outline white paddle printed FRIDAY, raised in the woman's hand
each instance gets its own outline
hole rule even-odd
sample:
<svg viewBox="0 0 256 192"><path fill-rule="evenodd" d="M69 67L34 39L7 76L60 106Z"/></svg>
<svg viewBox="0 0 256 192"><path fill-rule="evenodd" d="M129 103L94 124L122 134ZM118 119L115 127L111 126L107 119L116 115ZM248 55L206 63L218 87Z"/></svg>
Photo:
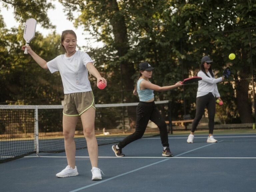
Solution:
<svg viewBox="0 0 256 192"><path fill-rule="evenodd" d="M36 20L30 18L25 23L25 28L23 32L23 38L26 41L26 45L29 45L30 41L34 38L36 33ZM28 53L27 48L25 48L25 54Z"/></svg>

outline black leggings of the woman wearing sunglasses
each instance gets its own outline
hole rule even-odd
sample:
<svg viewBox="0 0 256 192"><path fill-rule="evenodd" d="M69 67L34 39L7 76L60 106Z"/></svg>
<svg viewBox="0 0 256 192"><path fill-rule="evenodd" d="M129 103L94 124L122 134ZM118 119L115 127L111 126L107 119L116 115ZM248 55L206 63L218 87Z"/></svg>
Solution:
<svg viewBox="0 0 256 192"><path fill-rule="evenodd" d="M205 107L208 110L209 134L213 134L216 103L215 103L215 97L213 96L212 93L208 93L207 95L196 98L196 116L192 123L192 129L191 129L192 133L195 132L196 127L204 114Z"/></svg>

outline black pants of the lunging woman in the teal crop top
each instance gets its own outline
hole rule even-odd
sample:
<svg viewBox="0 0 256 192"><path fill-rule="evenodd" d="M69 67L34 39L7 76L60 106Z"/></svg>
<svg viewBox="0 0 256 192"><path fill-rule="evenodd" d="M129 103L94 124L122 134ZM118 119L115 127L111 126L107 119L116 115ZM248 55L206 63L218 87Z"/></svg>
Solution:
<svg viewBox="0 0 256 192"><path fill-rule="evenodd" d="M154 102L140 101L136 108L136 129L131 135L128 135L123 141L118 143L119 148L124 148L129 143L140 139L148 125L148 121L154 122L160 131L160 138L164 147L169 147L168 133L166 123L161 116L160 112L156 109Z"/></svg>

